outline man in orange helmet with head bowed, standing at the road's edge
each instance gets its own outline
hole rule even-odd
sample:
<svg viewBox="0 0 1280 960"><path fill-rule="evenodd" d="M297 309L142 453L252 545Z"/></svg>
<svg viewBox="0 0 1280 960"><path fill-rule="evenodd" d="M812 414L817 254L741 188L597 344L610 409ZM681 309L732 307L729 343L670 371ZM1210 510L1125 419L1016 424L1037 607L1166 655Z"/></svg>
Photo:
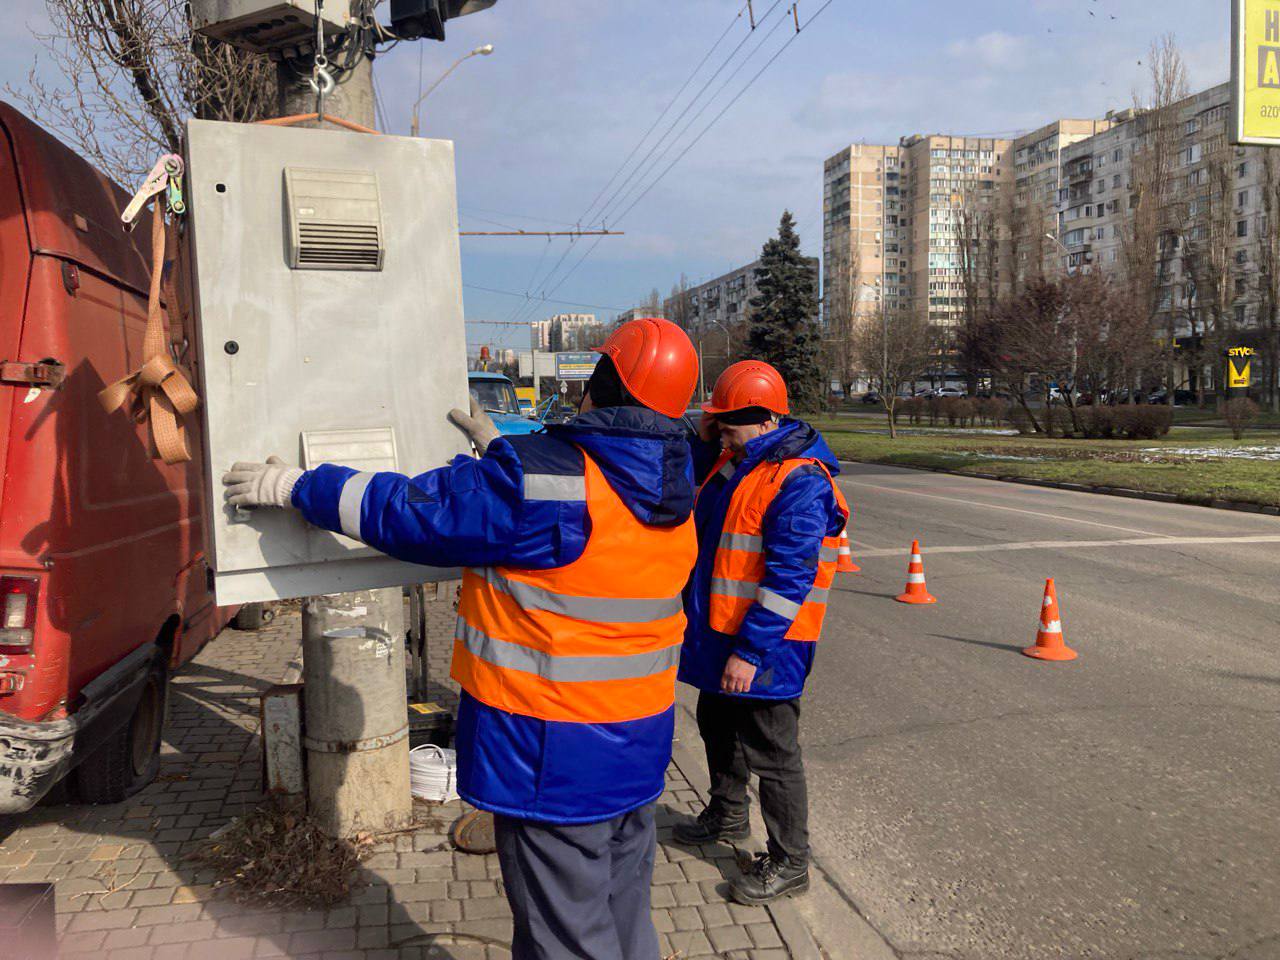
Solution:
<svg viewBox="0 0 1280 960"><path fill-rule="evenodd" d="M835 454L791 419L768 364L733 364L699 424L698 566L685 590L680 680L699 689L710 800L677 824L684 844L750 836L748 781L760 781L768 850L730 884L741 904L809 888L800 695L836 577L849 504Z"/></svg>

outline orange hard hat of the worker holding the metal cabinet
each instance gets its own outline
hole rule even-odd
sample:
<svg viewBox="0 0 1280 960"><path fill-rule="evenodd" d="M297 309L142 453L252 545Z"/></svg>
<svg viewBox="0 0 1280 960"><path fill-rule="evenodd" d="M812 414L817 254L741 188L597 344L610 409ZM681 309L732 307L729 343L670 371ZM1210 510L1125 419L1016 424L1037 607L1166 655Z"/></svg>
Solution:
<svg viewBox="0 0 1280 960"><path fill-rule="evenodd" d="M698 351L669 320L628 320L595 352L613 361L622 385L649 410L669 417L689 410L698 384Z"/></svg>

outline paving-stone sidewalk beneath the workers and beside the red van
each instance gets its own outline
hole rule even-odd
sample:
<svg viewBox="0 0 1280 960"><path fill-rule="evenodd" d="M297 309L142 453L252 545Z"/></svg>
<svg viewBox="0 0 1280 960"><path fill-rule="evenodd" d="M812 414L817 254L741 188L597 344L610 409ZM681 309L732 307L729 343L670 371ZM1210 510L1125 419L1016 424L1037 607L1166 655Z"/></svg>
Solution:
<svg viewBox="0 0 1280 960"><path fill-rule="evenodd" d="M430 608L431 695L452 707L452 604ZM232 902L207 869L186 859L261 801L259 694L296 660L300 636L298 614L287 608L261 631L225 631L187 664L173 680L160 776L128 803L46 805L0 818L0 882L56 883L64 960L511 956L497 858L456 852L447 838L461 804L438 806L421 829L376 846L362 864L362 886L329 910ZM671 842L672 824L701 806L690 783L696 777L682 769L689 758L677 744L658 804L653 908L663 955L787 960L785 920L727 902L733 849Z"/></svg>

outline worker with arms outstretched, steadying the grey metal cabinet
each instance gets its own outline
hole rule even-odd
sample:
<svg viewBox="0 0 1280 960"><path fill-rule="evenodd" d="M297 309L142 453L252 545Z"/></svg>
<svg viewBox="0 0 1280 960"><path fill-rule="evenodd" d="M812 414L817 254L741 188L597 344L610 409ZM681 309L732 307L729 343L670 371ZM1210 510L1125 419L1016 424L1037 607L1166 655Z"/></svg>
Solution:
<svg viewBox="0 0 1280 960"><path fill-rule="evenodd" d="M654 801L675 731L681 590L696 558L680 424L689 337L623 324L580 415L410 479L238 463L237 506L293 507L399 559L465 567L453 643L458 792L494 814L516 960L657 960Z"/></svg>

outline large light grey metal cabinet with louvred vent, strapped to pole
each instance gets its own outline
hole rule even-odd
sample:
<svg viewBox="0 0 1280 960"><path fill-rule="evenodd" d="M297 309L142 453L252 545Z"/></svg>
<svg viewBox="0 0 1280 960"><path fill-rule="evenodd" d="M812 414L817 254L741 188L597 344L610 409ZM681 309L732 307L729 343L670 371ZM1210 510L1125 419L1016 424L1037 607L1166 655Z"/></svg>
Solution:
<svg viewBox="0 0 1280 960"><path fill-rule="evenodd" d="M278 454L416 475L470 448L453 145L191 120L191 241L219 604L451 579L237 511L221 474Z"/></svg>

